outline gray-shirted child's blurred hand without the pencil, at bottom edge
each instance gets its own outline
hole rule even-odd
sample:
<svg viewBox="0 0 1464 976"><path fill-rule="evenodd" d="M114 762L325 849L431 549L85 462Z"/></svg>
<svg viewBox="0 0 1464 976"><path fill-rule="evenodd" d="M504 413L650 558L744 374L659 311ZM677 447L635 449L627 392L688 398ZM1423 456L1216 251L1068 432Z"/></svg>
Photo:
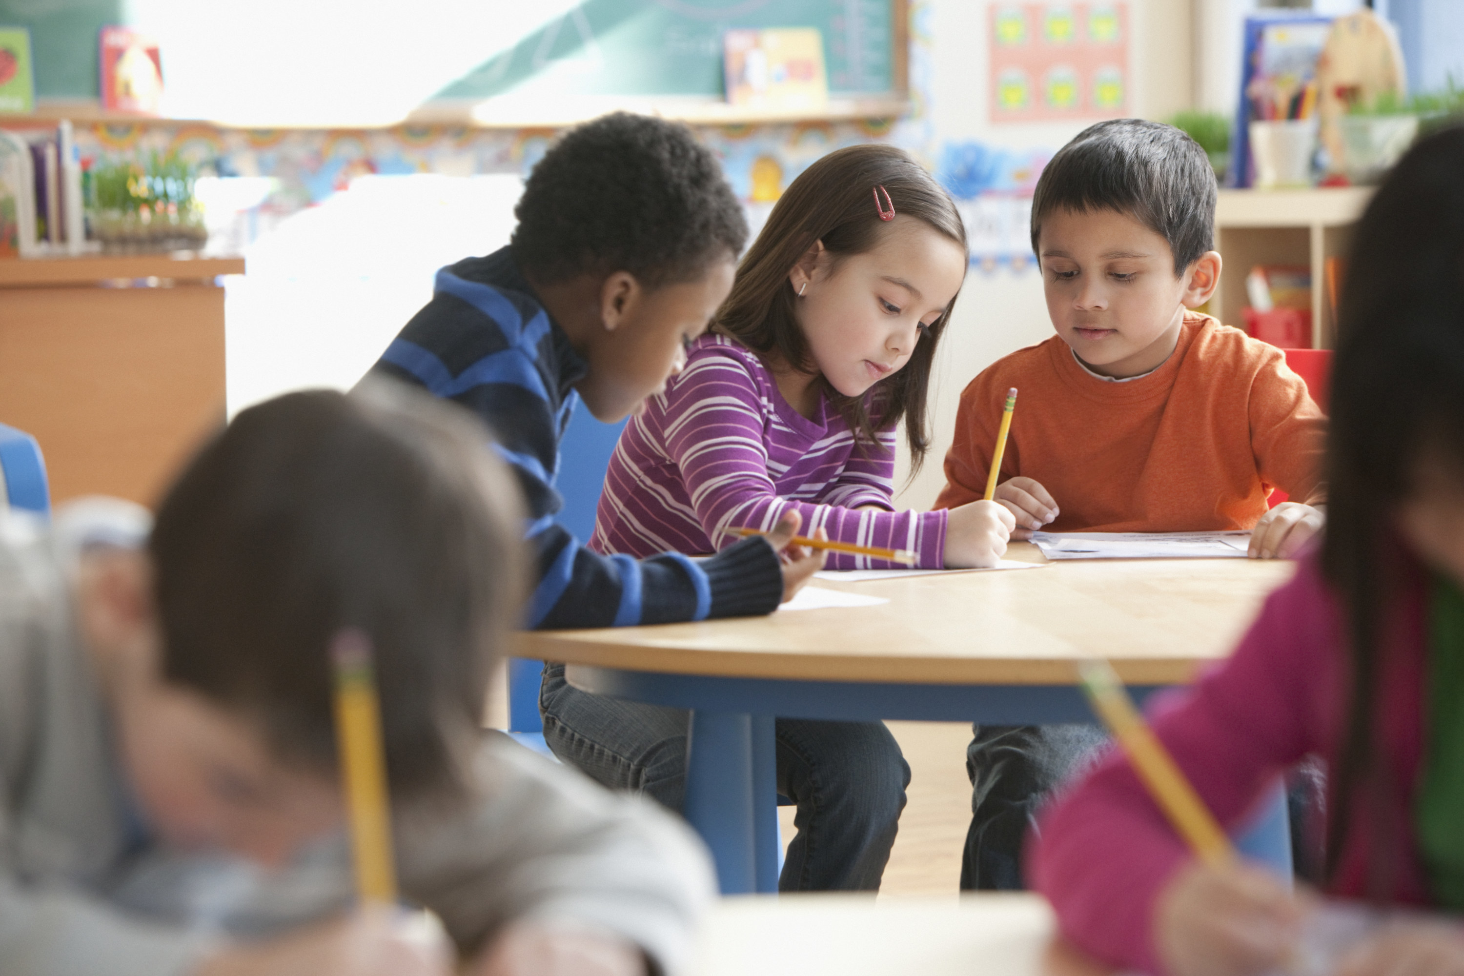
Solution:
<svg viewBox="0 0 1464 976"><path fill-rule="evenodd" d="M646 954L618 935L514 922L467 970L471 976L646 976Z"/></svg>

